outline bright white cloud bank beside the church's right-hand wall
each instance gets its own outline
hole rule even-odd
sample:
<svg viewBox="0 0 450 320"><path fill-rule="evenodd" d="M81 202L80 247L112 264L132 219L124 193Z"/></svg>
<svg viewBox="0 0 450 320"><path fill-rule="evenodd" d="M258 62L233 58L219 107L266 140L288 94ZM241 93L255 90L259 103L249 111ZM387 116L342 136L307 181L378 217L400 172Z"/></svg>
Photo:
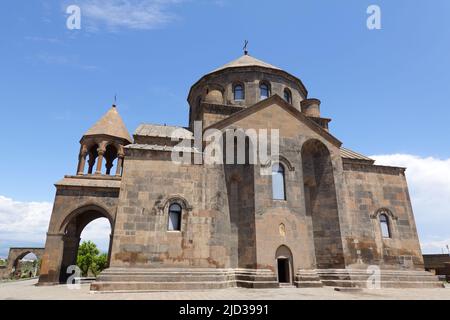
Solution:
<svg viewBox="0 0 450 320"><path fill-rule="evenodd" d="M372 156L376 164L406 167L411 202L424 253L450 245L450 159L408 154Z"/></svg>

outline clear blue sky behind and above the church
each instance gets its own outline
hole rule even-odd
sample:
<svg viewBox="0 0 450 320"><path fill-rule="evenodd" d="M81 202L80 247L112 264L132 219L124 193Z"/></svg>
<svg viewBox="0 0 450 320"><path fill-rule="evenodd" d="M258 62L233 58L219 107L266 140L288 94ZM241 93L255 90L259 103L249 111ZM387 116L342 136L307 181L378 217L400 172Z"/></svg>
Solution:
<svg viewBox="0 0 450 320"><path fill-rule="evenodd" d="M81 30L66 28L70 4L82 8ZM381 7L381 30L366 27L370 4ZM251 55L322 100L347 147L444 163L449 13L448 0L2 1L0 196L51 203L115 94L131 132L141 122L187 125L190 86L239 57L245 39ZM423 237L450 239L438 224Z"/></svg>

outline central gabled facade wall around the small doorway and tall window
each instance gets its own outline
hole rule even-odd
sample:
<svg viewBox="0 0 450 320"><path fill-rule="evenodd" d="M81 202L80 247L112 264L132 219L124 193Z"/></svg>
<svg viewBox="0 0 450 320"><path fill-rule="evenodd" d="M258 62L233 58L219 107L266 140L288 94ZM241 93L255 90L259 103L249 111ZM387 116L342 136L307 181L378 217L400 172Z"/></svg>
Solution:
<svg viewBox="0 0 450 320"><path fill-rule="evenodd" d="M233 127L274 128L280 133L286 200L272 199L271 175L262 174L263 166L258 164L253 171L255 211L245 212L246 215L255 215L257 268L276 271L276 252L281 246L291 250L294 270L315 268L312 217L306 214L304 202L301 150L311 139L321 141L331 153L334 175L339 176L342 170L339 148L276 105L234 122ZM339 191L342 188L340 179L335 179L335 184Z"/></svg>

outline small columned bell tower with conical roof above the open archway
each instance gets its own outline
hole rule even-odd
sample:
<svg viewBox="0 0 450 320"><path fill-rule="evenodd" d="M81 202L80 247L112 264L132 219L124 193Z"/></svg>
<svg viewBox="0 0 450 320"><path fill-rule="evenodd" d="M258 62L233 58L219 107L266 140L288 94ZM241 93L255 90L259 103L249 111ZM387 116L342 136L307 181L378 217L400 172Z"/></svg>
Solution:
<svg viewBox="0 0 450 320"><path fill-rule="evenodd" d="M117 107L112 105L81 138L77 175L121 176L125 156L123 148L130 143L130 134Z"/></svg>

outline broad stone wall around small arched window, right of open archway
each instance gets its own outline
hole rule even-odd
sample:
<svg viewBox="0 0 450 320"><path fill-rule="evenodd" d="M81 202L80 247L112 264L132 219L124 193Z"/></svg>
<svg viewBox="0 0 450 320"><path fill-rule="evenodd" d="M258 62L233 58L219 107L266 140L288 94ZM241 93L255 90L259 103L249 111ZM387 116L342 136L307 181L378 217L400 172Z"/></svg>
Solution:
<svg viewBox="0 0 450 320"><path fill-rule="evenodd" d="M231 233L223 170L177 165L170 152L127 150L112 267L230 267ZM168 206L183 207L168 231Z"/></svg>

